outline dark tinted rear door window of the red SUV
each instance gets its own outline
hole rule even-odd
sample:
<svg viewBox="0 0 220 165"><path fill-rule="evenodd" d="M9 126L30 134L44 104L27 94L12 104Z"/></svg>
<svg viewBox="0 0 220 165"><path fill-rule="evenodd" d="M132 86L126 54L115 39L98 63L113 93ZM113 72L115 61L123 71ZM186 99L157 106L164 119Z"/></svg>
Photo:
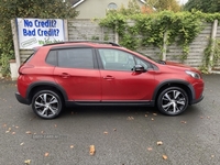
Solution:
<svg viewBox="0 0 220 165"><path fill-rule="evenodd" d="M58 66L68 68L94 68L91 48L58 50Z"/></svg>

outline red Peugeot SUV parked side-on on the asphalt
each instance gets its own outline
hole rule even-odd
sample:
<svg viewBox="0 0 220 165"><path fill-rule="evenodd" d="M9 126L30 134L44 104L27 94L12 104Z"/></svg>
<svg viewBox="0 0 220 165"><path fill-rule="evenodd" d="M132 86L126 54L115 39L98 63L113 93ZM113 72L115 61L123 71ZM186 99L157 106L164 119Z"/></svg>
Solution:
<svg viewBox="0 0 220 165"><path fill-rule="evenodd" d="M52 119L68 106L156 106L168 116L202 100L200 72L154 61L111 42L62 42L34 48L19 68L19 102Z"/></svg>

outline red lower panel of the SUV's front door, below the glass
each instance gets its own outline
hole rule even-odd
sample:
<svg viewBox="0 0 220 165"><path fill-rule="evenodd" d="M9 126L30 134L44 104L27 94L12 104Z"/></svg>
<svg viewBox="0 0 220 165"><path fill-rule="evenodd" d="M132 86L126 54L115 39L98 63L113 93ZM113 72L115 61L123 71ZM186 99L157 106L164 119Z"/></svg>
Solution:
<svg viewBox="0 0 220 165"><path fill-rule="evenodd" d="M106 79L107 77L107 79ZM101 70L102 100L150 100L156 86L154 74Z"/></svg>

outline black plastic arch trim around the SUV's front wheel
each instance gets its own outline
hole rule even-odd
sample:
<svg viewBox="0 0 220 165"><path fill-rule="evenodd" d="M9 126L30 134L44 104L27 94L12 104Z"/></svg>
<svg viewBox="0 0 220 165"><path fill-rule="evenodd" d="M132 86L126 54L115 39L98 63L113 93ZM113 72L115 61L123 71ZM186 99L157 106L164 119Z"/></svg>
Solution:
<svg viewBox="0 0 220 165"><path fill-rule="evenodd" d="M185 81L185 80L177 80L177 79L169 79L169 80L165 80L165 81L162 81L161 84L157 85L156 89L154 90L154 95L153 95L153 98L152 100L156 100L156 97L158 95L158 91L166 85L170 85L170 84L178 84L178 85L184 85L186 87L188 87L188 89L190 90L191 92L191 99L189 98L189 105L191 103L193 100L195 100L196 98L196 94L195 94L195 90L194 90L194 87L188 82L188 81Z"/></svg>

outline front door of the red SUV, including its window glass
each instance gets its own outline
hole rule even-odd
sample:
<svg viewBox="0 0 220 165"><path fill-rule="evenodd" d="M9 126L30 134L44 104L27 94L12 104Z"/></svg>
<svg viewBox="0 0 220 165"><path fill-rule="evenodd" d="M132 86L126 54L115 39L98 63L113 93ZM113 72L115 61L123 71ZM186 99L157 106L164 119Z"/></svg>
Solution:
<svg viewBox="0 0 220 165"><path fill-rule="evenodd" d="M102 101L148 101L154 90L154 75L132 70L138 59L120 50L98 50L103 69L101 74ZM143 62L144 63L144 62ZM147 64L145 64L147 67Z"/></svg>

